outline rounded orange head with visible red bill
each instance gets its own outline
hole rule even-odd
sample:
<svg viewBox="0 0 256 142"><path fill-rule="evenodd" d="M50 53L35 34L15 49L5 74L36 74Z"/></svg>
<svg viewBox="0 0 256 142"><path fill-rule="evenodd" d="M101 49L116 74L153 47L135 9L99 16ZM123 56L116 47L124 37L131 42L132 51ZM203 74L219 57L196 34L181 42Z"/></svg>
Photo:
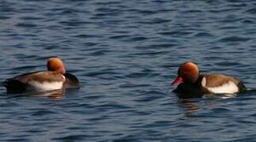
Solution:
<svg viewBox="0 0 256 142"><path fill-rule="evenodd" d="M193 62L185 62L178 68L178 77L172 84L194 83L199 77L199 69Z"/></svg>

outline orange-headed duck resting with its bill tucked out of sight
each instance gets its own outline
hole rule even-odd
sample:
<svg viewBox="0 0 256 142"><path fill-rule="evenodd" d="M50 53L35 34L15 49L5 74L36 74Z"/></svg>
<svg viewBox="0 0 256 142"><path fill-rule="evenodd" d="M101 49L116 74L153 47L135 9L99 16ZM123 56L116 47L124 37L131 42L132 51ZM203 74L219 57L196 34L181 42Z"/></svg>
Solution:
<svg viewBox="0 0 256 142"><path fill-rule="evenodd" d="M66 73L65 65L60 58L49 58L47 67L48 71L21 74L5 80L2 85L6 87L8 93L79 88L78 78Z"/></svg>

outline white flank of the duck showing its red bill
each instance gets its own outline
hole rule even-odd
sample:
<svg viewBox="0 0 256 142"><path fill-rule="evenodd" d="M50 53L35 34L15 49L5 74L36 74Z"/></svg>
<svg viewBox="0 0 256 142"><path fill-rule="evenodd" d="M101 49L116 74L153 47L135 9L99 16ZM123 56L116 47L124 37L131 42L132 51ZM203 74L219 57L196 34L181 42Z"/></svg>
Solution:
<svg viewBox="0 0 256 142"><path fill-rule="evenodd" d="M223 84L219 87L215 87L215 88L207 88L210 92L213 92L215 94L234 94L236 92L239 92L239 88L237 87L237 85L232 82L232 81L228 81L227 84Z"/></svg>

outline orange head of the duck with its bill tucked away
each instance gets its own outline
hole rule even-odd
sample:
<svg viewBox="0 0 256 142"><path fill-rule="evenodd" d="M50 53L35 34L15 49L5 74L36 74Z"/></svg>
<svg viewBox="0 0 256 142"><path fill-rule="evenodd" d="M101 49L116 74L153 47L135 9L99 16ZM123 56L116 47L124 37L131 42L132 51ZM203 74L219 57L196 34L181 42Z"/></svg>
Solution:
<svg viewBox="0 0 256 142"><path fill-rule="evenodd" d="M54 71L58 73L66 73L65 65L58 57L52 57L48 59L47 68L49 71Z"/></svg>

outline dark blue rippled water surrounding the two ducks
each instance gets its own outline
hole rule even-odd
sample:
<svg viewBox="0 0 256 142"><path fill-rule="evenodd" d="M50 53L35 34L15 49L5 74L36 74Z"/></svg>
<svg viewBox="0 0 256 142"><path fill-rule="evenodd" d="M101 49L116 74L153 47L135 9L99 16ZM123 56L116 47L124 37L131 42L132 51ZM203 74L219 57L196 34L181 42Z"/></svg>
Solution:
<svg viewBox="0 0 256 142"><path fill-rule="evenodd" d="M81 88L0 88L1 141L251 141L256 95L181 100L178 65L256 88L253 0L1 0L0 80L63 58Z"/></svg>

